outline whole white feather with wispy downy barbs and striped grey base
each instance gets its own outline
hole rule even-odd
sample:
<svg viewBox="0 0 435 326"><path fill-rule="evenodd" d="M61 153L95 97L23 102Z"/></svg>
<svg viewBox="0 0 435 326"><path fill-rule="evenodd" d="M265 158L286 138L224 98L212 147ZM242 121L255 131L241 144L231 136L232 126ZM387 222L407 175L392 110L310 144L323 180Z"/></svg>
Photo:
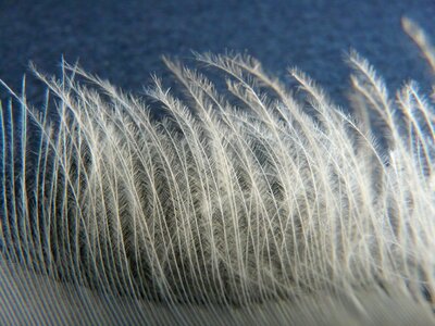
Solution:
<svg viewBox="0 0 435 326"><path fill-rule="evenodd" d="M65 62L35 70L38 109L2 83L1 321L434 323L431 97L390 96L355 51L346 110L297 68L288 89L247 55L195 58L142 98Z"/></svg>

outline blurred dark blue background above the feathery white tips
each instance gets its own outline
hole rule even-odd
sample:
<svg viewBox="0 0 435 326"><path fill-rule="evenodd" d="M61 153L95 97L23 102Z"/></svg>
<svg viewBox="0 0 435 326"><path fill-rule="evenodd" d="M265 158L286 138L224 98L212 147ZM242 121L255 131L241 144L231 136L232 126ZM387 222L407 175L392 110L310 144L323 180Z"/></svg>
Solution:
<svg viewBox="0 0 435 326"><path fill-rule="evenodd" d="M284 80L285 68L298 66L343 103L350 48L370 60L390 92L403 79L428 87L433 76L402 33L403 15L435 41L435 0L0 0L0 78L20 91L29 61L59 75L63 55L140 95L151 73L166 76L162 54L188 60L191 50L232 50ZM28 98L38 102L45 87L29 84ZM8 97L0 89L1 100Z"/></svg>

